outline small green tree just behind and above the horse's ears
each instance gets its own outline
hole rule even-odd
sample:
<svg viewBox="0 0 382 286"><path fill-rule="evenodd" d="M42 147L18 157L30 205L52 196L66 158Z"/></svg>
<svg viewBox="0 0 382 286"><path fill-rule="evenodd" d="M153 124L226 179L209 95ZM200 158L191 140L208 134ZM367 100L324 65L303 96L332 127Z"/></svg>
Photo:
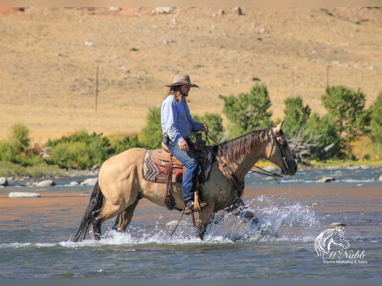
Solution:
<svg viewBox="0 0 382 286"><path fill-rule="evenodd" d="M311 109L308 105L303 105L301 96L288 97L284 103L285 123L283 131L289 138L292 138L297 136L301 128L306 126Z"/></svg>

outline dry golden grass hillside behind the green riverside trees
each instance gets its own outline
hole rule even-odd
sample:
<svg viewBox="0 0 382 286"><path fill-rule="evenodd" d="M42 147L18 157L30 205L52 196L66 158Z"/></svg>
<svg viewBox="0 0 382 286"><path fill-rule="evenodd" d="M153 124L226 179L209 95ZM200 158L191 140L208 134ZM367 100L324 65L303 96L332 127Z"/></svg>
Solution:
<svg viewBox="0 0 382 286"><path fill-rule="evenodd" d="M221 112L218 95L247 92L254 78L268 88L274 119L292 95L323 114L328 65L329 84L360 88L368 105L382 91L381 9L223 9L2 8L0 139L18 122L37 142L79 129L138 132L175 73L200 86L193 114Z"/></svg>

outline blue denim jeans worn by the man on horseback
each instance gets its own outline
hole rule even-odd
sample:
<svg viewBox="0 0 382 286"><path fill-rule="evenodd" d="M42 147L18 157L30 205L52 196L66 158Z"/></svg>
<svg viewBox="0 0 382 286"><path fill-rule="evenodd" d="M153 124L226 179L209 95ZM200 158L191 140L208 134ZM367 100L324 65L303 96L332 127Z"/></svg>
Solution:
<svg viewBox="0 0 382 286"><path fill-rule="evenodd" d="M183 201L187 206L193 201L193 193L195 191L195 179L199 171L199 162L195 153L191 150L193 142L189 139L186 141L190 148L187 152L182 151L177 142L170 141L167 145L170 152L184 164L187 169L185 170L182 182L182 195Z"/></svg>

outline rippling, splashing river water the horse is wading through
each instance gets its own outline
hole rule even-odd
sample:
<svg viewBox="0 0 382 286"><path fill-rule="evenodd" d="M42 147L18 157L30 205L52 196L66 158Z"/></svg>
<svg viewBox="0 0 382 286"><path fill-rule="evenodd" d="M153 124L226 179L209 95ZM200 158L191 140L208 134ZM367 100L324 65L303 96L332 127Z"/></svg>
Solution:
<svg viewBox="0 0 382 286"><path fill-rule="evenodd" d="M307 169L276 184L248 174L243 199L259 225L218 213L203 241L190 216L170 237L180 212L142 199L126 233L109 220L101 241L73 243L92 187L70 186L73 178L54 187L13 182L0 189L0 279L382 278L381 175L382 168ZM335 181L315 182L322 176ZM315 240L333 223L345 225L349 244L332 244L327 259Z"/></svg>

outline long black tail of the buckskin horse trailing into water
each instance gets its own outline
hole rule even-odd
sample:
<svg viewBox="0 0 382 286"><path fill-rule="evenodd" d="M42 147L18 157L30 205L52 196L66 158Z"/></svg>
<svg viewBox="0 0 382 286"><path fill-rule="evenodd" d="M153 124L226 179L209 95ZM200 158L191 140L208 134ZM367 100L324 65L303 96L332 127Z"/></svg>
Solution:
<svg viewBox="0 0 382 286"><path fill-rule="evenodd" d="M93 192L90 195L89 204L85 210L85 214L82 218L80 227L74 236L73 242L85 239L86 233L89 227L93 224L91 214L92 212L99 210L103 206L103 194L101 188L98 185L98 180L94 185Z"/></svg>

